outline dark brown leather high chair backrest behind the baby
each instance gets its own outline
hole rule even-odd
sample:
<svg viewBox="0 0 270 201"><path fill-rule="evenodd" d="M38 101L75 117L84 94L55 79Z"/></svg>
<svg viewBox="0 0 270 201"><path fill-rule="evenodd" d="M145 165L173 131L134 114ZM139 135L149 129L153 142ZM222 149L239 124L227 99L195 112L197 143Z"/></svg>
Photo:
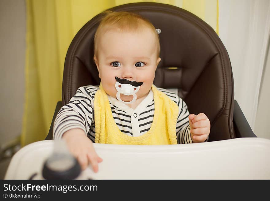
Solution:
<svg viewBox="0 0 270 201"><path fill-rule="evenodd" d="M167 4L131 3L114 11L138 13L161 29L160 58L154 84L178 88L190 113L210 119L209 141L235 138L233 75L228 53L216 32L194 14ZM64 65L62 102L67 104L80 86L98 85L94 35L102 15L88 21L75 35Z"/></svg>

